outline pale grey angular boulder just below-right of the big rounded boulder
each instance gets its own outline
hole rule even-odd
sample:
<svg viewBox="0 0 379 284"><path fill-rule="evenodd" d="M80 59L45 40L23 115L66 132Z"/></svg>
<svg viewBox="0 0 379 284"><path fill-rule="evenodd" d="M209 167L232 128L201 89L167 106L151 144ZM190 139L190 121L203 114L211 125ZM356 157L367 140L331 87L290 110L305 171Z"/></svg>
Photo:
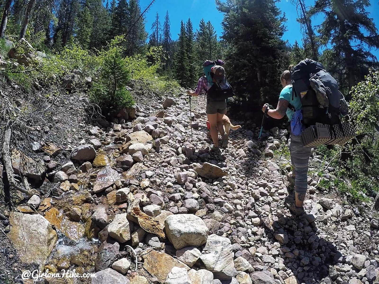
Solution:
<svg viewBox="0 0 379 284"><path fill-rule="evenodd" d="M226 237L220 237L216 234L208 236L204 251L200 259L207 270L213 272L215 278L220 280L229 280L237 275L234 267L232 243Z"/></svg>

